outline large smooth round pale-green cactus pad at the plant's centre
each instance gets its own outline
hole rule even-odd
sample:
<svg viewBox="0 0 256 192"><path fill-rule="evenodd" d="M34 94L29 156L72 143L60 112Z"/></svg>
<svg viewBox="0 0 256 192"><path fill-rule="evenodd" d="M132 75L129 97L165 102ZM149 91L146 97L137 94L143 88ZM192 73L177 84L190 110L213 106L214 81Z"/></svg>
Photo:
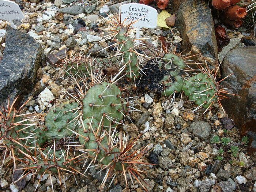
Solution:
<svg viewBox="0 0 256 192"><path fill-rule="evenodd" d="M109 127L116 126L114 122L123 120L126 110L123 103L121 91L115 84L95 84L83 99L83 119L93 117L98 122L104 121L103 126L108 130Z"/></svg>

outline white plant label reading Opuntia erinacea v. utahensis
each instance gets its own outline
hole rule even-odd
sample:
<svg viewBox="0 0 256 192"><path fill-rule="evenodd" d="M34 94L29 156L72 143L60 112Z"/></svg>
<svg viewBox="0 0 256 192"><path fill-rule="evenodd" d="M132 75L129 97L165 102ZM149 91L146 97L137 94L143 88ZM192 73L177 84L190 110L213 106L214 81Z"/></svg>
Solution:
<svg viewBox="0 0 256 192"><path fill-rule="evenodd" d="M119 7L120 20L124 23L132 23L137 27L136 38L139 39L141 27L154 29L157 27L157 10L140 3L128 3Z"/></svg>

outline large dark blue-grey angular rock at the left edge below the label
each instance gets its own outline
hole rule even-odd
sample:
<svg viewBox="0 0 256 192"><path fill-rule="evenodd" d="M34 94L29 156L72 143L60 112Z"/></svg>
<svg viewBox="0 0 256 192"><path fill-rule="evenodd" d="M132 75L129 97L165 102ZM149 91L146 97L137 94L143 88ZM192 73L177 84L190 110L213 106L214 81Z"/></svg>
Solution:
<svg viewBox="0 0 256 192"><path fill-rule="evenodd" d="M0 63L0 103L8 97L23 100L36 82L44 50L33 37L7 26L4 57Z"/></svg>

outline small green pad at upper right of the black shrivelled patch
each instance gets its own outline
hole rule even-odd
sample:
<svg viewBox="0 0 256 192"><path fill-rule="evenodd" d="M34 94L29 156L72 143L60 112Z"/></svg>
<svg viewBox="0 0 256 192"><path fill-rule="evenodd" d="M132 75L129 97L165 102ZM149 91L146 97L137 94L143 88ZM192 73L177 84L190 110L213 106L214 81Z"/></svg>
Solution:
<svg viewBox="0 0 256 192"><path fill-rule="evenodd" d="M173 53L165 54L163 60L167 62L167 64L165 65L165 69L168 71L170 70L170 75L173 77L177 76L180 73L181 69L185 69L186 67L184 60Z"/></svg>

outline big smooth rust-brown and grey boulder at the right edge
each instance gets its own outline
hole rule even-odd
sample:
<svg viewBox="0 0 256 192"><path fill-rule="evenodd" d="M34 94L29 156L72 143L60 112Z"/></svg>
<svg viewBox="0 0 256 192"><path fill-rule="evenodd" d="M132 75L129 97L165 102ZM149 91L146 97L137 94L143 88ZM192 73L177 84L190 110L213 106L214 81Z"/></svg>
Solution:
<svg viewBox="0 0 256 192"><path fill-rule="evenodd" d="M253 139L251 152L256 151L256 47L232 49L221 67L222 81L230 99L222 102L223 108L241 131L241 135Z"/></svg>

